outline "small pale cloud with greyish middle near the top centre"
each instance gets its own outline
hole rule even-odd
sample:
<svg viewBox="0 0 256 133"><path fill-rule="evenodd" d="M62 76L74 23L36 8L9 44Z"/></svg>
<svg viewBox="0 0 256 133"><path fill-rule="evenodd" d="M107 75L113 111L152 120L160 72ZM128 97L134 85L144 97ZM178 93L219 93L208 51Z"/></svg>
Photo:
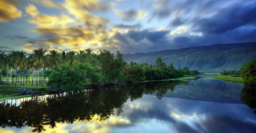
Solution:
<svg viewBox="0 0 256 133"><path fill-rule="evenodd" d="M145 19L147 16L147 10L113 10L114 13L122 18L123 21L133 21L135 19Z"/></svg>

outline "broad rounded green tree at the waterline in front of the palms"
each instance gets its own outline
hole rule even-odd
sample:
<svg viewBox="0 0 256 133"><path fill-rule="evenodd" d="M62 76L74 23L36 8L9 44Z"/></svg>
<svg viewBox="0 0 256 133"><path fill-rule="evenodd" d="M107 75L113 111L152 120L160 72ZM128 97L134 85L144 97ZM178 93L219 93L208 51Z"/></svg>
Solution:
<svg viewBox="0 0 256 133"><path fill-rule="evenodd" d="M78 65L71 67L64 63L53 68L47 86L62 91L79 91L83 89L82 82L86 83L86 71L79 69Z"/></svg>

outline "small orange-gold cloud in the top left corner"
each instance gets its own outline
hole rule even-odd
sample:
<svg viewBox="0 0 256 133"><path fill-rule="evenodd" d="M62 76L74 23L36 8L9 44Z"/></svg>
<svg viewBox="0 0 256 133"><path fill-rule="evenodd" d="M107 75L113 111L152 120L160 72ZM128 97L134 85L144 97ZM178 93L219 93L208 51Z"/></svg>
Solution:
<svg viewBox="0 0 256 133"><path fill-rule="evenodd" d="M22 11L14 6L18 5L16 0L2 0L0 5L0 22L13 21L21 17Z"/></svg>

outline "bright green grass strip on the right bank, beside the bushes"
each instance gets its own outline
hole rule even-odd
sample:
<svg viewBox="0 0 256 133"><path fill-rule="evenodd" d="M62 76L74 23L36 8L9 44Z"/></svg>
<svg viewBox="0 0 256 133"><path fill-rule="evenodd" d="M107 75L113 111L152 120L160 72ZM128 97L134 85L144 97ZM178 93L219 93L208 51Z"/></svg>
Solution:
<svg viewBox="0 0 256 133"><path fill-rule="evenodd" d="M215 79L221 79L228 82L237 82L237 83L244 83L242 77L231 77L231 76L223 76L223 75L200 75L202 77L212 77Z"/></svg>

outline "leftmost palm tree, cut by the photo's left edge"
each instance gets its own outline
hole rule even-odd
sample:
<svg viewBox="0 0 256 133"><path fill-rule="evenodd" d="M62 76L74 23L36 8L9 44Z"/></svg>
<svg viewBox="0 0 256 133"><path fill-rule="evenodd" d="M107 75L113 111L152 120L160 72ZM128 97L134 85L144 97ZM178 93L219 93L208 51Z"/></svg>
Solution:
<svg viewBox="0 0 256 133"><path fill-rule="evenodd" d="M7 84L9 83L9 74L8 74L8 70L10 70L10 68L14 68L15 62L12 61L10 59L10 57L8 56L8 54L3 54L3 59L1 60L1 65L2 67L0 68L0 71L4 70L7 74Z"/></svg>

